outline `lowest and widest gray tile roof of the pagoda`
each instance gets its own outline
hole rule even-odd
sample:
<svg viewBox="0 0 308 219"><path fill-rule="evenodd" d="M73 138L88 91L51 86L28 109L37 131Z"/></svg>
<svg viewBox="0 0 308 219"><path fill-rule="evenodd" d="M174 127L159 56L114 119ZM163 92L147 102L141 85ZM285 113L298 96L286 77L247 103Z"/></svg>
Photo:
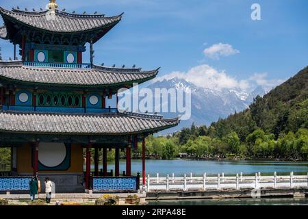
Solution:
<svg viewBox="0 0 308 219"><path fill-rule="evenodd" d="M0 111L0 132L38 134L134 134L157 132L179 124L179 118L144 118L142 114L47 114Z"/></svg>

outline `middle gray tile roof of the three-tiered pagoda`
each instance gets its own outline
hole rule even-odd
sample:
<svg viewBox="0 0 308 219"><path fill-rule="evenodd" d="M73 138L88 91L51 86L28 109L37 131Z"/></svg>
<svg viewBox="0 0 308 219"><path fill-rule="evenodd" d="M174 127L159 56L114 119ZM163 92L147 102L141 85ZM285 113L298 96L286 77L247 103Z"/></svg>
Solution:
<svg viewBox="0 0 308 219"><path fill-rule="evenodd" d="M141 68L49 68L23 66L21 61L0 62L0 79L54 86L105 87L114 84L144 82L153 79L158 69L142 71Z"/></svg>

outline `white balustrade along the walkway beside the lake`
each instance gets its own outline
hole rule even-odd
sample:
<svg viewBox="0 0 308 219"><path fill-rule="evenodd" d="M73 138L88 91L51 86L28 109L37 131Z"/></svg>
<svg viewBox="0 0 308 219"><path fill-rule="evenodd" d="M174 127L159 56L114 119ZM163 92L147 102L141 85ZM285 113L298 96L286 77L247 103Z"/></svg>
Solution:
<svg viewBox="0 0 308 219"><path fill-rule="evenodd" d="M140 179L142 182L142 179ZM183 177L175 177L174 174L166 177L146 177L146 191L153 190L241 190L241 189L260 189L260 188L307 188L307 175L274 175L262 176L261 173L256 173L255 176L243 176L242 173L235 176L217 176L207 177L205 173L203 177L193 177L184 175Z"/></svg>

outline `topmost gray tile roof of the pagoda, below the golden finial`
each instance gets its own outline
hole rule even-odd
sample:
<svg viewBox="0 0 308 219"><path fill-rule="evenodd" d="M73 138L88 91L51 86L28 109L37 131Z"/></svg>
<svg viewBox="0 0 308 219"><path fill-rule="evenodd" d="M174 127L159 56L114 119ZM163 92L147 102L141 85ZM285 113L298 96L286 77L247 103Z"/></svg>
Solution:
<svg viewBox="0 0 308 219"><path fill-rule="evenodd" d="M83 15L83 14L69 14L55 10L55 18L50 19L47 16L49 10L43 12L25 12L21 10L5 10L0 8L2 16L36 27L46 31L72 33L79 31L88 31L92 29L99 29L106 25L118 23L121 20L122 14L118 16L105 17L99 15Z"/></svg>

